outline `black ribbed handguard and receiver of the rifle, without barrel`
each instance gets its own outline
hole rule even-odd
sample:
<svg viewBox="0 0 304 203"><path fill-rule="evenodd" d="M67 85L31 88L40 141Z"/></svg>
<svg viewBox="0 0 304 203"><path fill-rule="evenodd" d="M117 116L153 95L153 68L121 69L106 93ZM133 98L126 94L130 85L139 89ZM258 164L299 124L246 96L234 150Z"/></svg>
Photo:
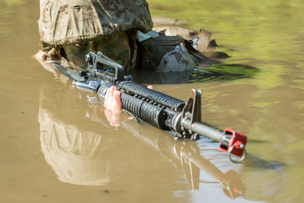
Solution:
<svg viewBox="0 0 304 203"><path fill-rule="evenodd" d="M95 80L89 78L90 76L87 80L74 82L74 85L86 89L94 89L102 98L105 97L107 89L111 86L116 86L121 92L123 109L157 128L168 131L175 137L179 137L182 133L182 131L174 129L174 118L182 112L185 106L184 101L148 89L132 81L117 81L114 83L103 80L101 76L99 77L100 80L96 80L94 77ZM98 85L92 86L94 83Z"/></svg>

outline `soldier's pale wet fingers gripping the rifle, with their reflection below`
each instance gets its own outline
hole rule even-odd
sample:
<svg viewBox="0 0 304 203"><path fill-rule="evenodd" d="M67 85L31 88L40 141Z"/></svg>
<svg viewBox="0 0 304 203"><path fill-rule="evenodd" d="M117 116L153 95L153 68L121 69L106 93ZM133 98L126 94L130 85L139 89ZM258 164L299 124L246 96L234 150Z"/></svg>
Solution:
<svg viewBox="0 0 304 203"><path fill-rule="evenodd" d="M148 89L153 89L151 85L147 86ZM121 93L117 90L116 86L111 86L105 93L105 116L107 117L111 126L120 126L122 119L122 104L120 99ZM128 119L133 119L129 117Z"/></svg>

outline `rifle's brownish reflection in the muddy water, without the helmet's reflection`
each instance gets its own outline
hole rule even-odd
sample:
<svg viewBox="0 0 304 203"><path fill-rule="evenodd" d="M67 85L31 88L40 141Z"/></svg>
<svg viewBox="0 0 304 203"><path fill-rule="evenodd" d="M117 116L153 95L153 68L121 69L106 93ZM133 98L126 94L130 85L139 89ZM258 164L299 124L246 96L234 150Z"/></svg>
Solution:
<svg viewBox="0 0 304 203"><path fill-rule="evenodd" d="M109 126L109 122L104 115L100 115L103 111L103 105L100 105L100 101L98 101L96 94L93 93L92 95L87 95L85 97L88 100L88 107L91 108L91 113L86 111L86 116L89 117L91 121L99 122L108 126L108 128L117 130L117 127ZM156 133L154 130L148 130L150 125L146 123L139 124L138 122L129 119L122 119L121 127L128 130L136 138L140 139L140 141L159 152L159 154L174 165L175 168L183 170L191 191L199 190L199 183L201 182L199 174L200 170L202 170L223 187L223 192L229 198L234 199L246 194L244 178L235 170L229 170L228 172L223 173L208 159L205 159L204 156L201 155L201 152L204 151L204 149L199 148L196 143L198 141L193 142L189 139L185 139L177 142L160 129L157 129ZM212 139L208 140L214 142ZM263 172L260 171L260 174L264 173L267 177L270 173L275 173L279 176L282 175L281 170L283 169L283 166L277 162L265 162L262 159L249 155L245 164L254 166L256 171L262 170ZM266 170L266 172L264 170ZM256 178L259 180L260 177L257 176ZM278 186L281 186L281 184L278 184ZM281 187L274 187L274 189L281 191ZM276 192L272 191L270 194L271 193Z"/></svg>

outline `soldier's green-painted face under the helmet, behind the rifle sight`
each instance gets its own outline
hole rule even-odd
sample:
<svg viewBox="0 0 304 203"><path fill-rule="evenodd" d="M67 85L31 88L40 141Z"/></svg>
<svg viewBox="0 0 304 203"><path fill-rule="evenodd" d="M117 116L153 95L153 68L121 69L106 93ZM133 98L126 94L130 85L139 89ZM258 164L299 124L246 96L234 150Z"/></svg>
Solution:
<svg viewBox="0 0 304 203"><path fill-rule="evenodd" d="M126 31L86 43L63 45L63 48L67 59L77 71L87 69L88 63L85 62L85 55L90 51L100 51L125 68L131 57L129 35Z"/></svg>

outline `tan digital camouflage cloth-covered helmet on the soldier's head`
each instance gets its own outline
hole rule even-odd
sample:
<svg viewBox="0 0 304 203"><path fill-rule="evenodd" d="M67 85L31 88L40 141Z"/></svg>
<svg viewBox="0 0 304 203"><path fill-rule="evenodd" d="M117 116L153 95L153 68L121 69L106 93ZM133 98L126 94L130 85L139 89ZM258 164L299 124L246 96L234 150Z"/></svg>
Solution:
<svg viewBox="0 0 304 203"><path fill-rule="evenodd" d="M40 0L40 49L153 27L146 0Z"/></svg>

